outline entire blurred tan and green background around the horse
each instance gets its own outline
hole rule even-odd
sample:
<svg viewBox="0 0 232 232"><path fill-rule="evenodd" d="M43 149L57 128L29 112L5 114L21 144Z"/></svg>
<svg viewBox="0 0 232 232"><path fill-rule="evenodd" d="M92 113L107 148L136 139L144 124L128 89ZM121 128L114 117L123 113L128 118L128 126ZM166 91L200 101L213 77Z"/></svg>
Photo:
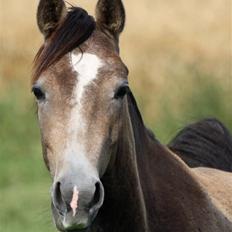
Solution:
<svg viewBox="0 0 232 232"><path fill-rule="evenodd" d="M93 12L96 1L70 0ZM232 129L231 0L124 0L121 56L147 125L164 143L186 123ZM30 93L38 1L0 0L0 231L55 231Z"/></svg>

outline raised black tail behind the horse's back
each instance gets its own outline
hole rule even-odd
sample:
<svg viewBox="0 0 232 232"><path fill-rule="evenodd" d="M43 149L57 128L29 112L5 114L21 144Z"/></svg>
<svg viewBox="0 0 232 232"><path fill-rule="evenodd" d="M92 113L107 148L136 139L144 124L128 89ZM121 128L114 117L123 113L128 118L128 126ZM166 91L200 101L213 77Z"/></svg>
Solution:
<svg viewBox="0 0 232 232"><path fill-rule="evenodd" d="M232 171L232 136L217 119L204 119L185 127L168 146L190 167Z"/></svg>

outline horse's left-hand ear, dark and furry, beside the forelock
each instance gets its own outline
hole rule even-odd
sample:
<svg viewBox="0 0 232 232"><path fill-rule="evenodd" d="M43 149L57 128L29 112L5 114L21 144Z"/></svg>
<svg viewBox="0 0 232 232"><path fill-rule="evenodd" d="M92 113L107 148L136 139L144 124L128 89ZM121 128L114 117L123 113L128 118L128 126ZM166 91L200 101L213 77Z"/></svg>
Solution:
<svg viewBox="0 0 232 232"><path fill-rule="evenodd" d="M40 0L37 10L37 24L45 39L56 29L66 12L63 0Z"/></svg>

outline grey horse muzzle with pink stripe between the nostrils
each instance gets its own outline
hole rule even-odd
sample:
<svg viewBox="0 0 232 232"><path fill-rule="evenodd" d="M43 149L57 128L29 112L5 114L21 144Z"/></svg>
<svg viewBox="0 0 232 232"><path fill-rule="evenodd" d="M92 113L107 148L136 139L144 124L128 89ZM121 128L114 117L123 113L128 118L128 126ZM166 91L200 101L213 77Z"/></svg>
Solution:
<svg viewBox="0 0 232 232"><path fill-rule="evenodd" d="M87 229L104 201L104 188L99 179L60 178L52 188L52 212L60 231Z"/></svg>

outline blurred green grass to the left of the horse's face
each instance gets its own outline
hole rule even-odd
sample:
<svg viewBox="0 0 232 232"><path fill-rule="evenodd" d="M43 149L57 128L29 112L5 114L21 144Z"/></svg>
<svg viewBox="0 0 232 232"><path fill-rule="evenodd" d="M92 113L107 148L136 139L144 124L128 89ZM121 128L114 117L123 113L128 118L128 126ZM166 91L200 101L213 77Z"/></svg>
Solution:
<svg viewBox="0 0 232 232"><path fill-rule="evenodd" d="M0 231L55 231L35 107L22 83L0 98Z"/></svg>

